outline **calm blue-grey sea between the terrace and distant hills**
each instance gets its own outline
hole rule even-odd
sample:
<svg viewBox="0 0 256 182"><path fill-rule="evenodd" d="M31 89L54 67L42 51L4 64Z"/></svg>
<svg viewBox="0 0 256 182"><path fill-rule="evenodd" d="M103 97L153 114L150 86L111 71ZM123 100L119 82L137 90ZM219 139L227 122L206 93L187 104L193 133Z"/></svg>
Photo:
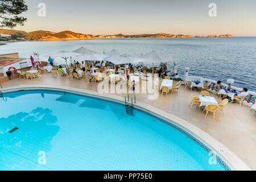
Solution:
<svg viewBox="0 0 256 182"><path fill-rule="evenodd" d="M190 67L189 75L213 78L223 82L228 78L234 78L234 85L247 87L256 92L256 38L17 42L0 46L0 54L19 52L21 57L29 57L33 51L46 55L62 50L73 51L81 46L99 53L117 49L128 55L159 51L177 61L180 75L183 75L184 67Z"/></svg>

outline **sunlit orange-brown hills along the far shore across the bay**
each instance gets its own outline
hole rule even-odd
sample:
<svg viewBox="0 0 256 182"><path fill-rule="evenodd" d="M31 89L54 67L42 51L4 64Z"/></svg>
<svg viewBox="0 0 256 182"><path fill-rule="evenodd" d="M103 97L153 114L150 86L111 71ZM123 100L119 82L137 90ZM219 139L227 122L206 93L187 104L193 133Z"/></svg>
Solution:
<svg viewBox="0 0 256 182"><path fill-rule="evenodd" d="M7 30L0 28L0 34L11 35L10 37L0 37L0 41L15 41L15 40L36 40L36 41L55 41L55 40L84 40L84 39L119 39L119 38L192 38L191 35L173 35L173 34L139 34L139 35L90 35L80 34L72 31L50 32L50 31L33 31L25 32L19 30ZM195 36L195 38L205 38L204 36ZM233 35L209 35L207 38L233 38Z"/></svg>

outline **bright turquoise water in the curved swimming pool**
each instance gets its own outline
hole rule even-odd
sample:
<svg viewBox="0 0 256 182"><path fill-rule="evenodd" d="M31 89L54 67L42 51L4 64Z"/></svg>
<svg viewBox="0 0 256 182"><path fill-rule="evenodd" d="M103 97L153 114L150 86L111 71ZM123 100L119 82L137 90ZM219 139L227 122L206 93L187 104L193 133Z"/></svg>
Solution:
<svg viewBox="0 0 256 182"><path fill-rule="evenodd" d="M225 170L190 137L139 110L132 117L114 102L45 90L5 97L1 170Z"/></svg>

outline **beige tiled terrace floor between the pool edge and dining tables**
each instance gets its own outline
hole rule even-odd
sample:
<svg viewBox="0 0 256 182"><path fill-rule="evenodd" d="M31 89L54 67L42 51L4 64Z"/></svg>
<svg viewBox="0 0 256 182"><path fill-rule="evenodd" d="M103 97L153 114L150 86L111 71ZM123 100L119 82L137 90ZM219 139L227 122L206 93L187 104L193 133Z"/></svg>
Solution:
<svg viewBox="0 0 256 182"><path fill-rule="evenodd" d="M84 78L74 81L73 78L68 77L52 77L51 73L45 73L34 80L14 78L2 84L4 89L20 85L68 86L97 92L98 83L86 81ZM250 107L228 104L225 107L225 114L218 110L215 119L212 115L205 118L205 113L196 106L190 109L191 94L199 96L200 92L188 88L184 90L184 86L181 86L179 94L170 94L168 97L160 94L158 100L148 100L147 94L136 94L136 97L139 102L174 114L205 131L233 151L248 167L256 170L256 118L251 113ZM115 95L123 99L125 96L125 94Z"/></svg>

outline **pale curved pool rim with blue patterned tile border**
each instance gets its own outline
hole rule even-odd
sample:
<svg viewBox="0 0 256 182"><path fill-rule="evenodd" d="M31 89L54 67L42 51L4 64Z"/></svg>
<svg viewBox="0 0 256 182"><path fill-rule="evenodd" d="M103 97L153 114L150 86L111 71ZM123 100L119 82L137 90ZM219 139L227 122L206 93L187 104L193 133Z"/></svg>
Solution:
<svg viewBox="0 0 256 182"><path fill-rule="evenodd" d="M68 86L49 86L49 85L20 85L11 88L1 89L3 93L15 92L19 90L56 90L61 92L69 92L74 94L84 94L94 98L101 98L104 100L118 102L119 104L125 104L124 97L115 96L114 94L101 94L92 90L78 89ZM231 170L236 171L251 171L251 169L236 156L232 151L225 147L222 143L205 133L203 130L192 125L188 121L177 117L174 114L167 113L166 111L160 110L154 106L150 106L143 102L137 101L134 104L135 109L146 111L146 113L152 114L153 117L158 117L168 124L176 126L176 129L181 129L181 132L189 135L195 142L201 144L209 151L213 151L217 155L217 159L222 163L222 166L227 166ZM219 157L219 158L218 158ZM224 163L224 164L223 164Z"/></svg>

